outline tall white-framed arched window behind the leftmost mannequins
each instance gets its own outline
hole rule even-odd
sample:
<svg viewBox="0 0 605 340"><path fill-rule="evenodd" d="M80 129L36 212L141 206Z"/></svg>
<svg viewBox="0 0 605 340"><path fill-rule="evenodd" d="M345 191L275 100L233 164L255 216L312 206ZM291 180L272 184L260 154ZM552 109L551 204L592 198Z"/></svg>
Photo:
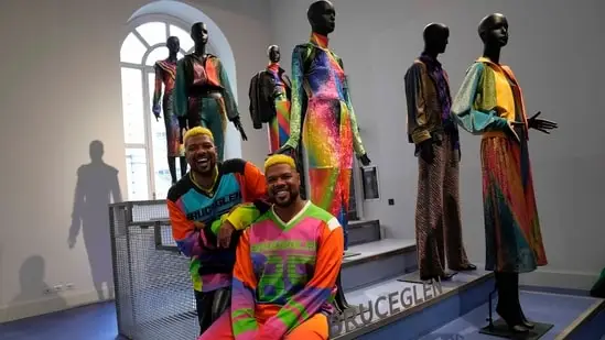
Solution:
<svg viewBox="0 0 605 340"><path fill-rule="evenodd" d="M169 55L166 39L181 42L179 58L193 52L188 29L161 19L134 23L120 51L129 200L164 199L171 186L164 122L151 112L155 62ZM208 44L208 53L213 53ZM163 113L162 113L163 117ZM180 174L176 162L176 173Z"/></svg>

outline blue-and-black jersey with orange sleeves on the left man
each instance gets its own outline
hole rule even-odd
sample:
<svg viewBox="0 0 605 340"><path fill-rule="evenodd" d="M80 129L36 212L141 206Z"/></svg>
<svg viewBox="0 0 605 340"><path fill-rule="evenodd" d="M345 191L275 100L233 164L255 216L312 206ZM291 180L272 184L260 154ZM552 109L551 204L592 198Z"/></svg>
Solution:
<svg viewBox="0 0 605 340"><path fill-rule="evenodd" d="M235 242L230 249L216 249L220 223L213 222L239 204L259 199L266 193L264 175L252 163L229 160L218 163L217 168L218 176L209 193L199 188L188 173L170 188L166 200L172 234L181 252L192 259L192 279L199 292L227 287L231 279ZM196 230L194 221L207 228Z"/></svg>

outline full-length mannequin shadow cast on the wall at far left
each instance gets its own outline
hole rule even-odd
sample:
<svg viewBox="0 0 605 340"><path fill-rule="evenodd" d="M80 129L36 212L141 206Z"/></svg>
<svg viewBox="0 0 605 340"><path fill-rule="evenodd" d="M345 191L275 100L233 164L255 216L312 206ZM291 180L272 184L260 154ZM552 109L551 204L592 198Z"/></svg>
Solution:
<svg viewBox="0 0 605 340"><path fill-rule="evenodd" d="M77 171L67 243L73 249L82 229L95 289L99 300L106 300L114 298L108 205L121 202L122 197L118 169L102 161L102 142L90 142L89 154L90 163L82 165ZM104 284L107 285L108 296L104 293Z"/></svg>

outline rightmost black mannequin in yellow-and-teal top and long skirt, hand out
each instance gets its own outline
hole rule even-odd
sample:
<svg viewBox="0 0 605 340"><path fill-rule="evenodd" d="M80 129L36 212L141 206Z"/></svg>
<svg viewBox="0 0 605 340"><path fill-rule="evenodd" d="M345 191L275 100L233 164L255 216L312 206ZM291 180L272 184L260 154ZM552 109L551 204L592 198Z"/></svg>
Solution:
<svg viewBox="0 0 605 340"><path fill-rule="evenodd" d="M508 21L499 13L478 26L483 56L467 70L454 99L452 117L464 130L482 135L480 157L486 231L486 270L494 271L496 311L511 332L533 328L519 301L519 273L548 263L536 206L528 132L558 128L527 118L522 90L510 67L500 64L508 43ZM514 198L515 201L511 201Z"/></svg>

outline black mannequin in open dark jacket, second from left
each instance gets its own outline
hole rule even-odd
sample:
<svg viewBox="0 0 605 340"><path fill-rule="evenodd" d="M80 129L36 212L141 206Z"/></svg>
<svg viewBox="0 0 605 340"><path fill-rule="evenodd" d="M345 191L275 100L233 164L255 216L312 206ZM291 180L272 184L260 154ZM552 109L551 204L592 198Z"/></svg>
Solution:
<svg viewBox="0 0 605 340"><path fill-rule="evenodd" d="M194 23L191 37L195 51L176 64L174 111L186 118L188 129L201 125L213 132L218 161L223 161L227 120L239 130L244 141L248 138L239 120L227 72L217 56L206 53L206 24Z"/></svg>

